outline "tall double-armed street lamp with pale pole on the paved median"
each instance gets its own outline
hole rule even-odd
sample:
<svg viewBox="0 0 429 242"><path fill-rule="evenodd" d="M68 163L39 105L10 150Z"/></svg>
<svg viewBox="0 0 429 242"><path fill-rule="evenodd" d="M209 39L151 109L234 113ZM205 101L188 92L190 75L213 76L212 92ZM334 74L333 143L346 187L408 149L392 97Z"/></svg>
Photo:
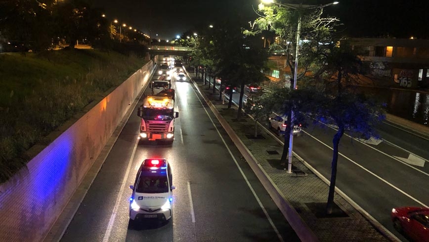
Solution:
<svg viewBox="0 0 429 242"><path fill-rule="evenodd" d="M279 3L276 2L274 0L262 0L262 2L264 3L274 3L280 6L284 6L290 9L294 9L294 10L304 10L304 9L314 9L314 8L323 8L323 7L327 7L333 4L338 4L338 1L334 1L328 4L324 4L324 5L304 5L304 4L284 4L284 3ZM299 12L300 13L300 12ZM297 44L296 44L296 49L295 49L295 71L294 71L294 90L297 89L297 78L298 78L298 49L300 47L300 31L301 31L301 14L299 14L299 18L298 18L298 27L297 27ZM292 145L294 143L294 111L292 110L292 115L291 117L288 117L291 119L291 127L290 127L290 134L289 134L289 159L288 159L288 173L292 173Z"/></svg>

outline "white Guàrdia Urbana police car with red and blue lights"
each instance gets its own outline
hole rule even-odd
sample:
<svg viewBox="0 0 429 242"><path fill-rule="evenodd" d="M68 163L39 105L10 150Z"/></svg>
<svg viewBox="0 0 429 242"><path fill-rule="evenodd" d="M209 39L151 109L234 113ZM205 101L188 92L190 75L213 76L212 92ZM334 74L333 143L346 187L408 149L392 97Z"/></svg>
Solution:
<svg viewBox="0 0 429 242"><path fill-rule="evenodd" d="M172 169L166 159L146 159L130 185L130 222L172 218Z"/></svg>

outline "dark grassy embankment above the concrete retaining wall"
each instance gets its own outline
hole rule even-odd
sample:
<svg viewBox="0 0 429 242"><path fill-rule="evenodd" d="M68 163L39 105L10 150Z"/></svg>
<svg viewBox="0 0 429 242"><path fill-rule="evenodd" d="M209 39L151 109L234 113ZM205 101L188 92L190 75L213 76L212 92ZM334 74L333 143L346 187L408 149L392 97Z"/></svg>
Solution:
<svg viewBox="0 0 429 242"><path fill-rule="evenodd" d="M29 148L145 63L89 49L1 54L0 183L31 159Z"/></svg>

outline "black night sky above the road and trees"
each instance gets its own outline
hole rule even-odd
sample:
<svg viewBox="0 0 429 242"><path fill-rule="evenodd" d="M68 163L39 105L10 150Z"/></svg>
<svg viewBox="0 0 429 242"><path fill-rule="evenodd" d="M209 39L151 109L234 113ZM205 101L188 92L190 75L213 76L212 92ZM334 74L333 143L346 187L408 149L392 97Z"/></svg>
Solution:
<svg viewBox="0 0 429 242"><path fill-rule="evenodd" d="M198 25L215 24L227 17L257 18L259 0L86 0L117 18L158 38L172 39ZM329 0L281 1L324 4ZM350 37L429 39L429 0L340 0L325 12L338 17L342 33Z"/></svg>

